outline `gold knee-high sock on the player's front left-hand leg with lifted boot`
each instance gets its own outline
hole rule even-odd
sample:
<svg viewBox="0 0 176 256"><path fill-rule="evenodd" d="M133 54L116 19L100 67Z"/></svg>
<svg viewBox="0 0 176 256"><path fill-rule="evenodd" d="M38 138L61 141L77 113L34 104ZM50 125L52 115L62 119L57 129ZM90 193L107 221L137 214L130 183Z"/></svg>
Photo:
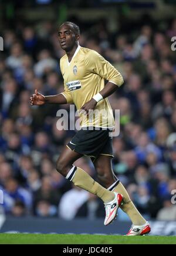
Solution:
<svg viewBox="0 0 176 256"><path fill-rule="evenodd" d="M114 199L114 193L112 191L103 188L98 182L94 181L87 172L75 165L70 169L66 179L73 181L77 187L83 188L90 193L97 195L97 197L100 197L105 203Z"/></svg>

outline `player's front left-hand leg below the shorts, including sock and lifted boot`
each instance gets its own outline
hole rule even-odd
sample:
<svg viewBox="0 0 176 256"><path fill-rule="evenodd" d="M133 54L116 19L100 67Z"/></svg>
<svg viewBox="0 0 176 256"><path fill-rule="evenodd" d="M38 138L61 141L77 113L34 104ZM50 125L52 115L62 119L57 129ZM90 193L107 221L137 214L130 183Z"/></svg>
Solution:
<svg viewBox="0 0 176 256"><path fill-rule="evenodd" d="M98 182L94 181L87 172L73 165L76 159L80 157L82 157L81 154L65 147L62 154L57 159L56 169L66 179L72 181L77 187L83 188L103 200L106 210L104 225L108 225L116 217L117 210L123 198L120 194L102 187Z"/></svg>

